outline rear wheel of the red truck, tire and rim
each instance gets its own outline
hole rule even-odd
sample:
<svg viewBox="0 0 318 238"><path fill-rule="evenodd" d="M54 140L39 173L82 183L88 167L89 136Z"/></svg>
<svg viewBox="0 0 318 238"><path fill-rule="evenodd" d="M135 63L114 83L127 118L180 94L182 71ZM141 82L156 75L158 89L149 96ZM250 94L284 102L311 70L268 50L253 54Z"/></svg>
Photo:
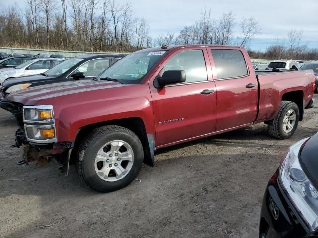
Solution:
<svg viewBox="0 0 318 238"><path fill-rule="evenodd" d="M268 125L269 134L277 139L291 137L298 125L299 109L296 103L282 101L277 116Z"/></svg>

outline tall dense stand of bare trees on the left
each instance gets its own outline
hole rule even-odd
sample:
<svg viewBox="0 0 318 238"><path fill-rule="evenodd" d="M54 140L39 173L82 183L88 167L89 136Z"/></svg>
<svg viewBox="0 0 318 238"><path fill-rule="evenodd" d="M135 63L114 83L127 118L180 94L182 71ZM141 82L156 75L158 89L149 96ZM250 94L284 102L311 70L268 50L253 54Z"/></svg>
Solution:
<svg viewBox="0 0 318 238"><path fill-rule="evenodd" d="M25 0L2 8L0 45L129 52L152 45L149 23L115 0ZM21 5L20 5L21 6Z"/></svg>

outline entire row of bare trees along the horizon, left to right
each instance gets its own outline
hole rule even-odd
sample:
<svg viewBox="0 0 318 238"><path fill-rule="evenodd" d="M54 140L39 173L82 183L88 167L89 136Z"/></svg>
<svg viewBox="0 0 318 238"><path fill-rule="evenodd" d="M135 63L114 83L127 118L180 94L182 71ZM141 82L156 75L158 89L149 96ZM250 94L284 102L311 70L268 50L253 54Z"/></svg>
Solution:
<svg viewBox="0 0 318 238"><path fill-rule="evenodd" d="M132 52L152 46L180 44L239 45L249 48L261 34L258 22L232 12L211 17L205 8L200 19L178 34L152 39L149 22L134 16L130 2L115 0L24 0L22 5L2 7L0 46L75 51ZM236 30L236 32L235 32ZM286 40L277 39L265 52L252 51L252 58L318 60L318 49L301 45L303 31L292 29Z"/></svg>

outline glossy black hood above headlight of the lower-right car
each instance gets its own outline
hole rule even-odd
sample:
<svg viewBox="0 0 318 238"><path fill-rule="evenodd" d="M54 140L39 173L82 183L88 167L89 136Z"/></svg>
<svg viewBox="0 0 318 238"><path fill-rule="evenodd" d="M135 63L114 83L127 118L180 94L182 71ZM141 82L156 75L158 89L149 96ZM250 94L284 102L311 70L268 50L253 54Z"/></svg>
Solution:
<svg viewBox="0 0 318 238"><path fill-rule="evenodd" d="M302 145L299 161L307 177L318 188L318 133Z"/></svg>

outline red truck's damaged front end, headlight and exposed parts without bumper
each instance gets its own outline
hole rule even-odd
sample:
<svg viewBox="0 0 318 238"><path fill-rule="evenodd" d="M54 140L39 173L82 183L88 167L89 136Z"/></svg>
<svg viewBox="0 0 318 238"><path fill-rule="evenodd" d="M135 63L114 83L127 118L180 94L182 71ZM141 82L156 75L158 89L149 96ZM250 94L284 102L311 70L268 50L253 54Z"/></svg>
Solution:
<svg viewBox="0 0 318 238"><path fill-rule="evenodd" d="M74 141L57 142L53 107L24 106L20 111L22 113L15 114L20 128L12 145L23 149L23 160L18 164L36 161L40 167L53 160L67 175Z"/></svg>

